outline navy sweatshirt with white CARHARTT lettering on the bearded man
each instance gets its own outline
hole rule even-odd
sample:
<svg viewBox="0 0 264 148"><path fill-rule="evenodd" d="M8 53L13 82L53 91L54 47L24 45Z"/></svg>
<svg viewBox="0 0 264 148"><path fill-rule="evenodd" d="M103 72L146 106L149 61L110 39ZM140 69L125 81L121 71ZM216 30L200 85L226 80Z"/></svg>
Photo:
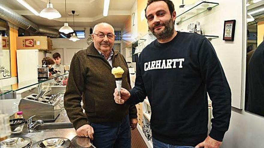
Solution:
<svg viewBox="0 0 264 148"><path fill-rule="evenodd" d="M141 52L135 87L126 103L151 105L155 139L196 146L207 137L208 99L213 116L210 137L222 141L231 116L231 91L211 43L196 33L178 32L167 43L157 40Z"/></svg>

